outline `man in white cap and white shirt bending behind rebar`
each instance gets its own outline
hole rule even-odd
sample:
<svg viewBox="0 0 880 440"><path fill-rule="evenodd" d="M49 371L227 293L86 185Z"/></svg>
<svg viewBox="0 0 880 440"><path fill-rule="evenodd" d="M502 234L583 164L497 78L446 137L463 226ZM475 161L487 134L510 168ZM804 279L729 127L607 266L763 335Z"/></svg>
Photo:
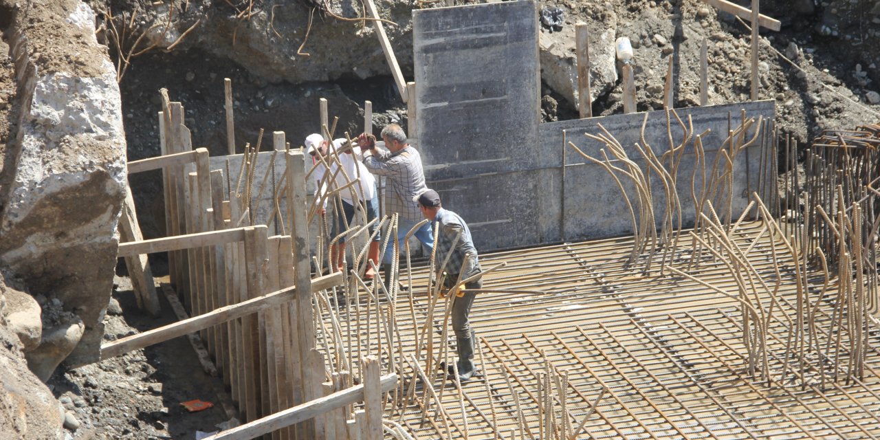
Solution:
<svg viewBox="0 0 880 440"><path fill-rule="evenodd" d="M318 180L319 196L323 196L329 190L345 187L348 181L358 180L354 185L343 189L339 192L342 206L336 209L330 227L330 239L337 237L345 231L346 225L351 225L355 218L356 209L365 209L366 221L369 223L372 219L378 217L379 200L376 191L376 178L361 164L358 159L360 149L357 147L343 148L348 140L340 138L328 143L324 140L324 136L315 133L305 138L306 151L312 155L314 163L318 164L314 171L315 179ZM340 152L341 151L341 152ZM335 158L339 158L337 163ZM329 171L326 165L329 165ZM342 165L340 170L339 165ZM342 172L344 170L344 173ZM332 181L324 181L326 172L329 172ZM348 177L348 180L346 179ZM323 209L326 210L327 200L335 200L334 196L327 197L324 200ZM322 211L323 212L323 211ZM343 221L342 216L345 216ZM375 231L376 224L370 226L370 234ZM370 241L370 250L367 252L367 259L371 260L374 265L378 265L379 258L379 234ZM342 260L345 256L345 237L339 238L337 243L330 246L329 259L330 270L345 270ZM364 273L364 279L371 280L376 276L373 265L368 263L367 270Z"/></svg>

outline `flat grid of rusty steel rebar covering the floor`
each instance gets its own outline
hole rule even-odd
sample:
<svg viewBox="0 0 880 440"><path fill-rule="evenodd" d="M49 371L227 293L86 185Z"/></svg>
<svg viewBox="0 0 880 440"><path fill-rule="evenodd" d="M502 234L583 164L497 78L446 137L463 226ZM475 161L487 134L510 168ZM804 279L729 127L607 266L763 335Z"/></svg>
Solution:
<svg viewBox="0 0 880 440"><path fill-rule="evenodd" d="M773 307L779 316L794 316L796 269L790 255L774 252L782 245L771 243L762 226L743 224L731 237L750 249L747 259L757 274L779 274ZM420 362L413 356L452 358L444 352L454 336L444 332L449 324L442 303L427 334L434 351L425 356L417 350L429 316L426 268L413 268L409 292L401 291L390 302L378 296L378 307L375 297L364 294L336 304L336 322L330 322L330 308L324 310L327 359L341 356L334 353L334 337L327 337L336 328L337 342L352 356L379 352L383 368L403 365L400 370L408 371L409 379L390 395L385 417L415 438L880 435L875 320L868 325L860 378L847 376L845 362L840 363L851 346L850 335L837 324L841 317L833 312L835 295L825 296L811 315L815 334L805 343L821 345L818 350L792 343L784 319L770 321L767 374L755 377L737 300L668 272L634 270L627 265L632 246L632 238L615 238L483 256L483 268L506 266L485 276L486 291L478 294L470 315L484 376L461 384L460 390L436 367L422 371L424 362L416 365ZM691 255L678 253L674 262L686 267ZM689 273L701 282L737 290L722 261L704 256L693 263ZM819 271L811 274L811 282L821 284L818 277ZM406 281L405 275L400 278ZM836 289L834 282L828 291ZM766 293L759 299L769 305ZM384 318L370 328L373 315ZM828 350L836 360L822 355Z"/></svg>

